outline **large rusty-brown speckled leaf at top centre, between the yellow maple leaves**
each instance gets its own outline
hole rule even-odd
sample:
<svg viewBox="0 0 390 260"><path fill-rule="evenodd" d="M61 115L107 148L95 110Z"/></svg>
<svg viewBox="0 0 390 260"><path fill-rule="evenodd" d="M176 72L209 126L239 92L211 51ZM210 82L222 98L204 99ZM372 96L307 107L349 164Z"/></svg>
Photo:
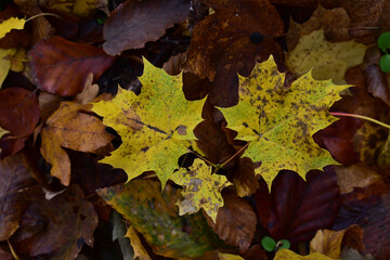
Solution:
<svg viewBox="0 0 390 260"><path fill-rule="evenodd" d="M209 90L212 105L232 106L238 102L237 73L248 75L255 61L270 54L281 60L273 37L283 32L283 22L269 0L204 2L214 13L195 26L184 68L213 81ZM253 34L264 35L263 41L251 42Z"/></svg>

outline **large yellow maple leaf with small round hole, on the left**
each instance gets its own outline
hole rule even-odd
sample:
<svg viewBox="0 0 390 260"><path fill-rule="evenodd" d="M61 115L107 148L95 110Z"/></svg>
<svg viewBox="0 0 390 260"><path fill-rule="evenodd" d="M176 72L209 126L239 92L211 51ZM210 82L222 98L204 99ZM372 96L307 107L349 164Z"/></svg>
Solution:
<svg viewBox="0 0 390 260"><path fill-rule="evenodd" d="M155 171L162 187L178 168L178 159L187 152L193 129L202 121L203 101L187 101L182 76L169 76L144 58L140 77L142 91L119 88L112 100L93 105L103 123L115 129L122 144L101 162L123 169L131 180L144 171Z"/></svg>

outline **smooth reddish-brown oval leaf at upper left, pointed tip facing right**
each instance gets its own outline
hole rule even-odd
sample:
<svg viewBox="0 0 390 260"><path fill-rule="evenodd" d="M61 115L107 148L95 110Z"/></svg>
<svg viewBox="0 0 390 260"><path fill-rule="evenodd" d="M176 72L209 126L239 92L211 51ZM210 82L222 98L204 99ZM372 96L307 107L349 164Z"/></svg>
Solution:
<svg viewBox="0 0 390 260"><path fill-rule="evenodd" d="M96 47L61 37L38 42L29 56L37 87L63 96L82 91L89 73L98 80L114 61Z"/></svg>

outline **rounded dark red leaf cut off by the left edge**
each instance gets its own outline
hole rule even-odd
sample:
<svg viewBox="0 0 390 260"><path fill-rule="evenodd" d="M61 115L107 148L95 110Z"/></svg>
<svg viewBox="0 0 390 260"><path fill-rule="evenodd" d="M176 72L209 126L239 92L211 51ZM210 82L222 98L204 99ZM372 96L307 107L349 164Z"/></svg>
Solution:
<svg viewBox="0 0 390 260"><path fill-rule="evenodd" d="M0 90L0 126L12 134L1 141L1 156L16 154L39 121L37 96L22 88ZM8 139L5 141L5 139Z"/></svg>

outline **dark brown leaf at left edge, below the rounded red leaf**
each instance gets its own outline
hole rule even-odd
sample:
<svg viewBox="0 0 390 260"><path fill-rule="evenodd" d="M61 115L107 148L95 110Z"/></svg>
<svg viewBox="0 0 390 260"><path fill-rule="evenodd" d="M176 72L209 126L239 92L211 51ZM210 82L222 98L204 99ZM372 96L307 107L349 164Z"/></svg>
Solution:
<svg viewBox="0 0 390 260"><path fill-rule="evenodd" d="M20 155L0 160L0 240L10 238L18 227L34 184Z"/></svg>

